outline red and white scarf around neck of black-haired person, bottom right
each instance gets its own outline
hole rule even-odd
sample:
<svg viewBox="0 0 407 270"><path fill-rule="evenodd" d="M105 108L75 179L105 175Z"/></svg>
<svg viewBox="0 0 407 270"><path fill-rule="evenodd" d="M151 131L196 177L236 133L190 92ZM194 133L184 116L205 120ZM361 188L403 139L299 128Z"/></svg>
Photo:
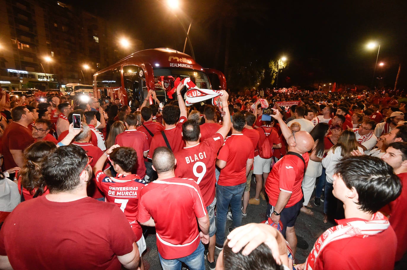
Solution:
<svg viewBox="0 0 407 270"><path fill-rule="evenodd" d="M315 242L311 253L305 261L304 269L312 270L315 268L315 261L318 255L330 242L361 235L363 235L363 238L366 238L370 235L381 233L389 226L389 220L381 212L376 212L371 220L354 220L327 229Z"/></svg>

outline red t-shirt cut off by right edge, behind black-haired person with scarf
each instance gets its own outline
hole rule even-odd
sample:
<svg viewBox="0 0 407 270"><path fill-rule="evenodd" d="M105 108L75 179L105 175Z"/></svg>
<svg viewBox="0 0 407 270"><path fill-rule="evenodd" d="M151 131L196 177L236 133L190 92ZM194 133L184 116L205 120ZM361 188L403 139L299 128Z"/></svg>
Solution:
<svg viewBox="0 0 407 270"><path fill-rule="evenodd" d="M407 251L407 225L405 219L405 210L407 209L407 173L400 173L397 176L400 178L403 188L401 189L400 196L389 203L391 211L389 221L396 232L396 261L399 261Z"/></svg>

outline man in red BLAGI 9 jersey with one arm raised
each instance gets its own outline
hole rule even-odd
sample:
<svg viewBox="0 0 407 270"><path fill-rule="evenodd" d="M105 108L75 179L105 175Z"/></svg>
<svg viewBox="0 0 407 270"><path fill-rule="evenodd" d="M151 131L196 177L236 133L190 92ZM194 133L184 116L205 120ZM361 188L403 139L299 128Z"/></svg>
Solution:
<svg viewBox="0 0 407 270"><path fill-rule="evenodd" d="M228 93L222 91L222 104L227 104ZM182 125L182 136L184 136L186 147L175 153L177 166L175 176L190 178L197 182L201 189L202 198L205 201L206 211L209 216L209 247L206 259L211 270L215 268L215 162L219 149L222 147L230 130L229 110L224 110L223 126L206 140L201 137L200 125L196 121L188 120Z"/></svg>

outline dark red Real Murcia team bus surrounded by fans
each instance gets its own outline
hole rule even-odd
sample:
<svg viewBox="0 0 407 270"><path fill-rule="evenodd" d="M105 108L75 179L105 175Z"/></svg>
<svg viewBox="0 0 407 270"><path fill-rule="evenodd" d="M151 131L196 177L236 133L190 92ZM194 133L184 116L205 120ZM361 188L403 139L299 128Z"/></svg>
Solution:
<svg viewBox="0 0 407 270"><path fill-rule="evenodd" d="M188 54L165 48L142 50L96 72L94 96L119 98L121 104L134 108L154 89L160 102L166 103L175 80L190 77L199 88L212 89L208 76L219 84L217 89L226 89L221 71L201 67ZM176 94L173 97L176 99Z"/></svg>

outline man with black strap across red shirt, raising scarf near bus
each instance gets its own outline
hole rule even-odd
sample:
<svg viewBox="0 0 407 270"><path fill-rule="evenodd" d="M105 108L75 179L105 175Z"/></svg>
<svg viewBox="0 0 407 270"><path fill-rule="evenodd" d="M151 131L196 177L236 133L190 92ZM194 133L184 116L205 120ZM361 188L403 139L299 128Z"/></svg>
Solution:
<svg viewBox="0 0 407 270"><path fill-rule="evenodd" d="M185 102L181 95L181 89L183 87L184 85L182 83L179 83L177 86L179 107L166 105L162 110L165 130L154 135L153 140L151 140L151 151L149 151L148 155L149 159L153 158L154 149L157 147L166 146L175 153L185 146L185 142L182 139L182 123L184 123L187 118Z"/></svg>

